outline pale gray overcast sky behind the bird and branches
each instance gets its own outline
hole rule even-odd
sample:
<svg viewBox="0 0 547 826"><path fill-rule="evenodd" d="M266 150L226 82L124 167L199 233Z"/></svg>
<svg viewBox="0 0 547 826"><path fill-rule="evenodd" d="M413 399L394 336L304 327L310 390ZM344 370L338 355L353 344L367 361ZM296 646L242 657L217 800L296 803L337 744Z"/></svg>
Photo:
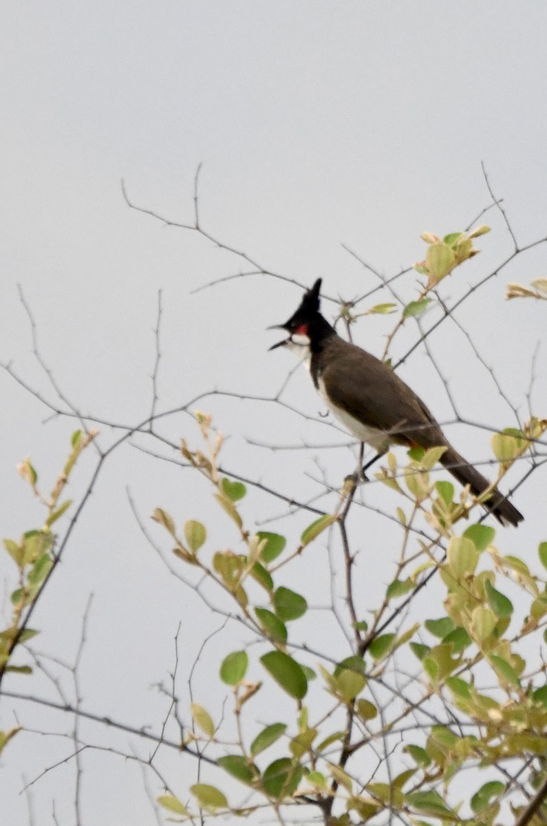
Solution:
<svg viewBox="0 0 547 826"><path fill-rule="evenodd" d="M21 284L36 318L40 353L74 406L136 424L150 411L161 288L160 410L213 388L271 396L281 386L293 363L287 354L267 353L275 339L264 328L286 320L300 291L274 278L250 277L193 294L213 278L244 269L243 263L194 233L131 211L121 178L140 206L191 222L193 177L202 163L203 227L270 271L307 285L321 276L332 297L352 298L378 286L342 244L388 276L421 258L422 231L464 229L490 202L481 161L520 244L544 237L546 31L547 7L529 0L5 3L0 359L12 361L36 392L55 397L31 355ZM494 231L478 240L482 254L445 282L443 296L450 300L511 252L501 216L491 211L482 220ZM457 315L523 415L545 305L507 302L504 292L509 281L538 276L545 276L543 247L492 278ZM407 276L397 290L410 300L416 279ZM378 292L369 303L389 299ZM355 339L380 354L391 327L389 318L365 319ZM405 330L394 355L404 353L415 334L412 327ZM462 416L492 426L514 424L454 325L443 325L430 344ZM536 370L535 412L545 415L545 349ZM402 375L440 419L453 418L442 382L423 354ZM316 415L320 406L308 382L303 372L295 376L285 398ZM74 423L45 422L45 408L3 371L0 387L2 536L17 537L43 517L15 466L31 455L40 478L52 482ZM331 440L330 431L325 437L320 425L258 402L212 398L201 406L231 436L226 465L234 471L302 498L317 491L306 476L318 474L313 452L270 453L245 437L297 444ZM106 426L100 430L106 447L114 434ZM184 415L169 419L164 432L197 444L197 430ZM486 431L458 427L450 436L467 458L488 458ZM351 461L345 451L321 455L333 483L352 469ZM74 477L74 496L92 464L90 453ZM540 485L540 474L534 478ZM40 605L35 624L43 633L36 648L73 661L93 591L84 705L157 729L166 703L150 686L173 667L178 621L191 662L202 628L212 630L218 620L198 615L197 597L174 582L145 542L126 486L143 519L153 507L165 506L179 522L206 521L219 545L235 541L213 510L206 485L128 446L105 466ZM379 487L370 496L384 509L394 507ZM503 541L507 549L524 544L531 550L545 540L545 525L533 518L535 508L545 508L545 473L543 488L524 488L516 504L526 525L518 534L505 532ZM252 523L255 515L283 513L283 506L257 499L250 500L247 518ZM295 542L307 521L296 517L273 525ZM370 537L373 529L365 525ZM169 548L159 529L150 531ZM308 563L300 561L295 577L308 575ZM380 583L388 581L387 564L385 571L374 566ZM14 584L7 558L0 558L0 572L8 594ZM328 600L327 586L317 584L317 604ZM370 593L377 587L370 580L365 585ZM6 597L3 602L8 612ZM231 647L237 643L235 634ZM206 695L207 675L226 644L226 638L213 642L198 670ZM9 685L51 693L40 676L12 677ZM31 728L59 731L67 724L41 708L17 710ZM12 707L4 701L2 727L12 724ZM112 743L97 727L88 729L88 738ZM123 748L127 741L116 742ZM10 826L29 822L21 776L34 778L70 748L68 740L22 734L7 749L7 809L2 806ZM97 752L87 759L83 823L154 822L136 767ZM53 822L52 800L59 824L74 823L72 797L64 793L74 788L73 772L68 764L31 787L36 823Z"/></svg>

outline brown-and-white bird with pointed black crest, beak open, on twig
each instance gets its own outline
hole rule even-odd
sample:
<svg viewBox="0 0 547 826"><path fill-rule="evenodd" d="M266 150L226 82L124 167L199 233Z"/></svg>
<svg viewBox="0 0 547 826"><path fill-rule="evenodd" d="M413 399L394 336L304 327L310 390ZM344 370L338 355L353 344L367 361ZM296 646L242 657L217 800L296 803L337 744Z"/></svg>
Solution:
<svg viewBox="0 0 547 826"><path fill-rule="evenodd" d="M481 496L490 482L452 447L421 398L388 364L341 338L321 315L321 281L317 278L304 293L297 311L285 324L269 327L288 333L288 339L269 349L285 347L297 354L327 408L378 456L391 444L444 447L440 463L460 484L469 485L474 496ZM516 526L524 519L497 488L483 505L502 525Z"/></svg>

